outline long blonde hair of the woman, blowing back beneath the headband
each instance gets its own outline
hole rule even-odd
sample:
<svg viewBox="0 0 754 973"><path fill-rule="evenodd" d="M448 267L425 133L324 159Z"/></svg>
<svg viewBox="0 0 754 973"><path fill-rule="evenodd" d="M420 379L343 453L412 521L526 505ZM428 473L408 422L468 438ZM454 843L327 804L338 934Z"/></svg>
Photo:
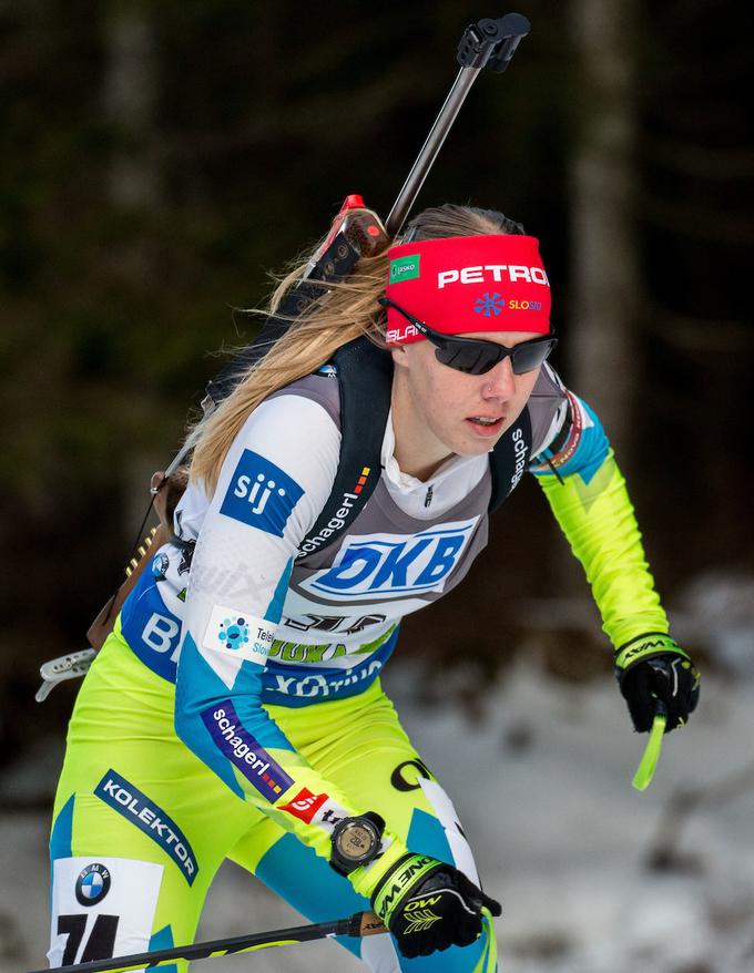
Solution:
<svg viewBox="0 0 754 973"><path fill-rule="evenodd" d="M446 203L416 216L403 239L522 232L519 224L495 209ZM278 279L266 310L253 313L265 317L275 314L288 291L303 278L309 259ZM241 376L227 398L190 431L187 444L193 449L190 475L192 480L204 481L208 495L217 486L220 470L233 440L261 402L278 389L310 375L354 338L366 337L379 347L386 347L385 311L377 298L385 290L387 268L388 252L384 250L376 256L361 257L346 280L328 284L304 314L291 321L288 330L264 357Z"/></svg>

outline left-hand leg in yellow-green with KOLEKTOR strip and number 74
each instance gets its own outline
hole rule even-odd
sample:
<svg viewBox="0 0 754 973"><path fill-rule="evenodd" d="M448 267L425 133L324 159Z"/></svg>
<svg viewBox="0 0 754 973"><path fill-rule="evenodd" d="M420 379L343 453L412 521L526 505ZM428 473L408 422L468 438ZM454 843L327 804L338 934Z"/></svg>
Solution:
<svg viewBox="0 0 754 973"><path fill-rule="evenodd" d="M259 817L177 739L161 682L111 636L79 694L50 838L52 966L190 942Z"/></svg>

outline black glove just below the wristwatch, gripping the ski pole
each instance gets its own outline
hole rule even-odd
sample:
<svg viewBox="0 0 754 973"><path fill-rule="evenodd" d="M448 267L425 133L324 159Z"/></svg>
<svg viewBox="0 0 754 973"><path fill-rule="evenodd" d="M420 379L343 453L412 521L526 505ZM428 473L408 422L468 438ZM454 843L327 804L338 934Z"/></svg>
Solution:
<svg viewBox="0 0 754 973"><path fill-rule="evenodd" d="M448 946L468 946L481 932L481 910L500 915L490 899L462 872L426 854L405 854L371 897L377 915L407 959Z"/></svg>

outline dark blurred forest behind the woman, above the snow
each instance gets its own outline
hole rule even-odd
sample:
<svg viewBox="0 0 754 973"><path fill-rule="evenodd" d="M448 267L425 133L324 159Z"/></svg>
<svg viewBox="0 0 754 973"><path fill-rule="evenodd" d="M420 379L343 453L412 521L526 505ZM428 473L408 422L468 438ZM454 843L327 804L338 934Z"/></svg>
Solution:
<svg viewBox="0 0 754 973"><path fill-rule="evenodd" d="M531 34L506 74L479 76L418 208L492 206L541 238L556 367L611 436L676 636L724 667L719 625L733 619L744 651L727 665L751 674L751 10L513 9ZM32 709L39 665L84 647L120 583L150 474L177 450L215 352L253 337L234 308L263 303L267 272L348 193L387 215L463 27L503 12L0 0L7 768L32 721L62 740L73 688ZM460 593L406 625L399 656L441 659L445 677L471 625L477 668L457 679L469 711L479 667L505 669L531 632L559 677L603 675L609 646L569 559L526 483ZM6 789L3 806L47 808L52 783Z"/></svg>

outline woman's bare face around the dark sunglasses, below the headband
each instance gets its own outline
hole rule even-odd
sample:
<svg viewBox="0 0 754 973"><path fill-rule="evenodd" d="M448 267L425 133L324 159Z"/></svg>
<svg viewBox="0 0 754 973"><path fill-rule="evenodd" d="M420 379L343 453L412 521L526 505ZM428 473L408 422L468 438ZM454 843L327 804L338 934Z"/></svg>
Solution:
<svg viewBox="0 0 754 973"><path fill-rule="evenodd" d="M479 331L463 337L512 348L541 335ZM452 453L489 452L523 411L540 372L514 375L510 358L503 358L485 375L465 375L441 365L429 341L396 346L393 359L396 459L404 472L419 479Z"/></svg>

